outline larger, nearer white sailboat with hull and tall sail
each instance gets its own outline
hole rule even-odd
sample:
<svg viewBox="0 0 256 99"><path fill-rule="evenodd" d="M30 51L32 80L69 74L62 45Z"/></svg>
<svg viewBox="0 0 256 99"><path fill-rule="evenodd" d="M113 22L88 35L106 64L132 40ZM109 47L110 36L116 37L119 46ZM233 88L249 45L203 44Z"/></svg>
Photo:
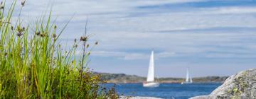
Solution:
<svg viewBox="0 0 256 99"><path fill-rule="evenodd" d="M159 83L154 81L154 51L151 52L149 60L149 71L146 82L143 83L144 87L158 87Z"/></svg>

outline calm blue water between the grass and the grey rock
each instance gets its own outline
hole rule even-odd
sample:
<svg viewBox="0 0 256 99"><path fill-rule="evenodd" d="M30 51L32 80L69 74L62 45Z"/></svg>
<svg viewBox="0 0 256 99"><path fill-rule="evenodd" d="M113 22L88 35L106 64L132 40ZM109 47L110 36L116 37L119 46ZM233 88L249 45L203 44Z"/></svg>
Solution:
<svg viewBox="0 0 256 99"><path fill-rule="evenodd" d="M144 88L142 83L117 84L117 93L131 96L151 96L157 98L187 99L197 95L208 95L221 83L193 83L181 85L179 83L161 83L158 88ZM107 87L113 86L108 83Z"/></svg>

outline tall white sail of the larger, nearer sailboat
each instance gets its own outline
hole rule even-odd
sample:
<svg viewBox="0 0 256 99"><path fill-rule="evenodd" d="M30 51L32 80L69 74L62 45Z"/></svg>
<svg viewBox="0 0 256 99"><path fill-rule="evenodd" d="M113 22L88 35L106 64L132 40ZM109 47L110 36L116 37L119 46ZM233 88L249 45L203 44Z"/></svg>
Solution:
<svg viewBox="0 0 256 99"><path fill-rule="evenodd" d="M154 82L154 51L151 52L147 82Z"/></svg>

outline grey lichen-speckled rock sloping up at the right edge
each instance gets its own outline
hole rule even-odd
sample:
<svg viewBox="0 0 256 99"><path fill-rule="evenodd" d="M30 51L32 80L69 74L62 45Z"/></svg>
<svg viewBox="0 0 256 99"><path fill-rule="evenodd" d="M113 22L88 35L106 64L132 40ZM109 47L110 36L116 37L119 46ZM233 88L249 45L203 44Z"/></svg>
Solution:
<svg viewBox="0 0 256 99"><path fill-rule="evenodd" d="M210 95L191 99L256 99L256 69L241 71L230 76Z"/></svg>

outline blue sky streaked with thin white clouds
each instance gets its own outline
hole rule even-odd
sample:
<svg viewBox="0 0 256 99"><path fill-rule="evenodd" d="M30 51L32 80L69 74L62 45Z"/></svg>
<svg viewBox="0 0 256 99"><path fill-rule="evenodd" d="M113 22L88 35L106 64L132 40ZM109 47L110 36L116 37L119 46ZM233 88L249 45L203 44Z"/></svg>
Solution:
<svg viewBox="0 0 256 99"><path fill-rule="evenodd" d="M51 8L71 44L84 32L99 41L90 68L146 76L151 50L158 77L230 76L256 64L253 0L27 0L21 16ZM27 21L28 22L28 21ZM29 22L28 22L29 23Z"/></svg>

